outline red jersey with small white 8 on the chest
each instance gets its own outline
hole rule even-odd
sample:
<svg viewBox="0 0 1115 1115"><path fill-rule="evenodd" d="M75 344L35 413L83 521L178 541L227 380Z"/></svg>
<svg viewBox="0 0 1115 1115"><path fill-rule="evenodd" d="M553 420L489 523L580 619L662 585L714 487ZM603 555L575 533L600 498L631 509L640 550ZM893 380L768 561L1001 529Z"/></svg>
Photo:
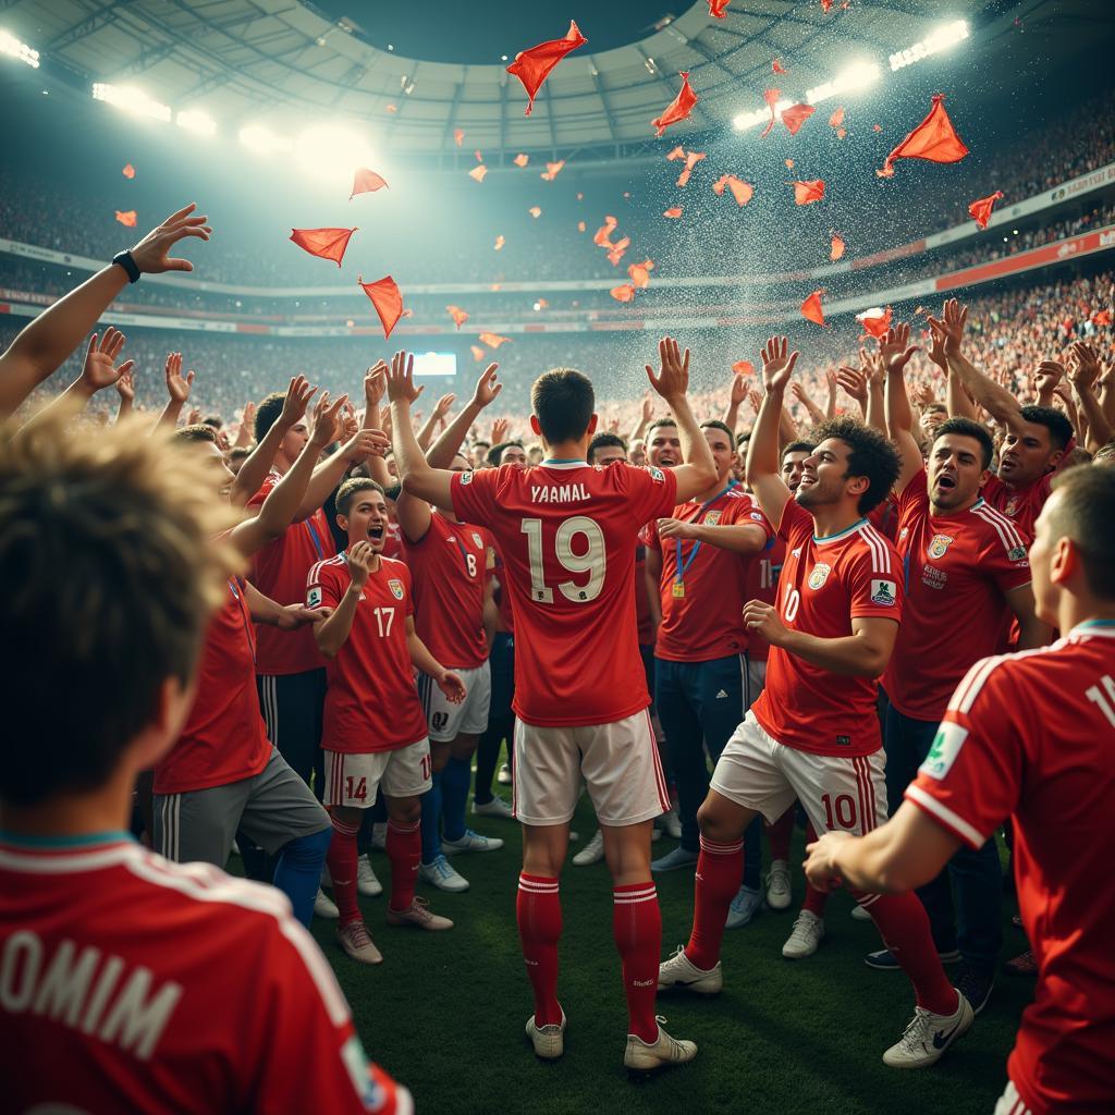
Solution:
<svg viewBox="0 0 1115 1115"><path fill-rule="evenodd" d="M487 532L450 523L434 512L429 530L407 541L414 576L415 629L443 665L473 670L487 660L484 590L487 586Z"/></svg>

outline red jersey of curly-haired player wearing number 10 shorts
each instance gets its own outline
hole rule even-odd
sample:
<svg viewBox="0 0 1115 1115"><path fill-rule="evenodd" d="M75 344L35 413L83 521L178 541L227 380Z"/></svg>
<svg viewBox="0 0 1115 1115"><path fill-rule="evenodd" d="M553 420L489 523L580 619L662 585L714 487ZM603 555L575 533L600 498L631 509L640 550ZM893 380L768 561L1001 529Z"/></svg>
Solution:
<svg viewBox="0 0 1115 1115"><path fill-rule="evenodd" d="M852 634L854 619L902 619L901 563L865 518L840 534L813 536L813 516L791 500L778 533L786 561L778 614L821 639ZM752 706L767 735L814 755L871 755L881 746L872 678L823 670L780 647L767 659L766 687Z"/></svg>

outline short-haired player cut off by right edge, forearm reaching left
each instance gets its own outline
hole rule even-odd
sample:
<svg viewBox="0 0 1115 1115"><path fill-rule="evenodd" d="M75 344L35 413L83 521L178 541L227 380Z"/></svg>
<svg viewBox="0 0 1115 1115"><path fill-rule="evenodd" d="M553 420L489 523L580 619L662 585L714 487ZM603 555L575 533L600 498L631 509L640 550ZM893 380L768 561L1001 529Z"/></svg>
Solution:
<svg viewBox="0 0 1115 1115"><path fill-rule="evenodd" d="M977 662L905 801L862 838L809 846L817 886L902 892L981 847L1008 817L1038 964L996 1115L1115 1111L1115 472L1056 478L1030 549L1049 647Z"/></svg>

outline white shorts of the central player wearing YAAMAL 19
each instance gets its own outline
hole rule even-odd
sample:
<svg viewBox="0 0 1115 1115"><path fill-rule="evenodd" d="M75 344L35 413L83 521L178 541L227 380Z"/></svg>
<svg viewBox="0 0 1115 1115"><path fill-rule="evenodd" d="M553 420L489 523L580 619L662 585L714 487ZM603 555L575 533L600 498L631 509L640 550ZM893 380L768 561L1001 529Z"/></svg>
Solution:
<svg viewBox="0 0 1115 1115"><path fill-rule="evenodd" d="M634 825L670 807L647 709L612 724L543 728L515 721L515 816L526 825L561 825L582 785L602 825Z"/></svg>

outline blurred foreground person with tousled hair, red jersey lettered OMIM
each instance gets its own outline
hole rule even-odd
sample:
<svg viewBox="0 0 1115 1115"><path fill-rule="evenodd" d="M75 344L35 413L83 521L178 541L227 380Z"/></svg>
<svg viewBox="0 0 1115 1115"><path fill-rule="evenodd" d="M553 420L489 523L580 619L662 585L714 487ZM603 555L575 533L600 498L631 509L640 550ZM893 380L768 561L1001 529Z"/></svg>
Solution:
<svg viewBox="0 0 1115 1115"><path fill-rule="evenodd" d="M126 832L243 558L193 448L67 417L0 434L2 1106L408 1113L279 891Z"/></svg>

